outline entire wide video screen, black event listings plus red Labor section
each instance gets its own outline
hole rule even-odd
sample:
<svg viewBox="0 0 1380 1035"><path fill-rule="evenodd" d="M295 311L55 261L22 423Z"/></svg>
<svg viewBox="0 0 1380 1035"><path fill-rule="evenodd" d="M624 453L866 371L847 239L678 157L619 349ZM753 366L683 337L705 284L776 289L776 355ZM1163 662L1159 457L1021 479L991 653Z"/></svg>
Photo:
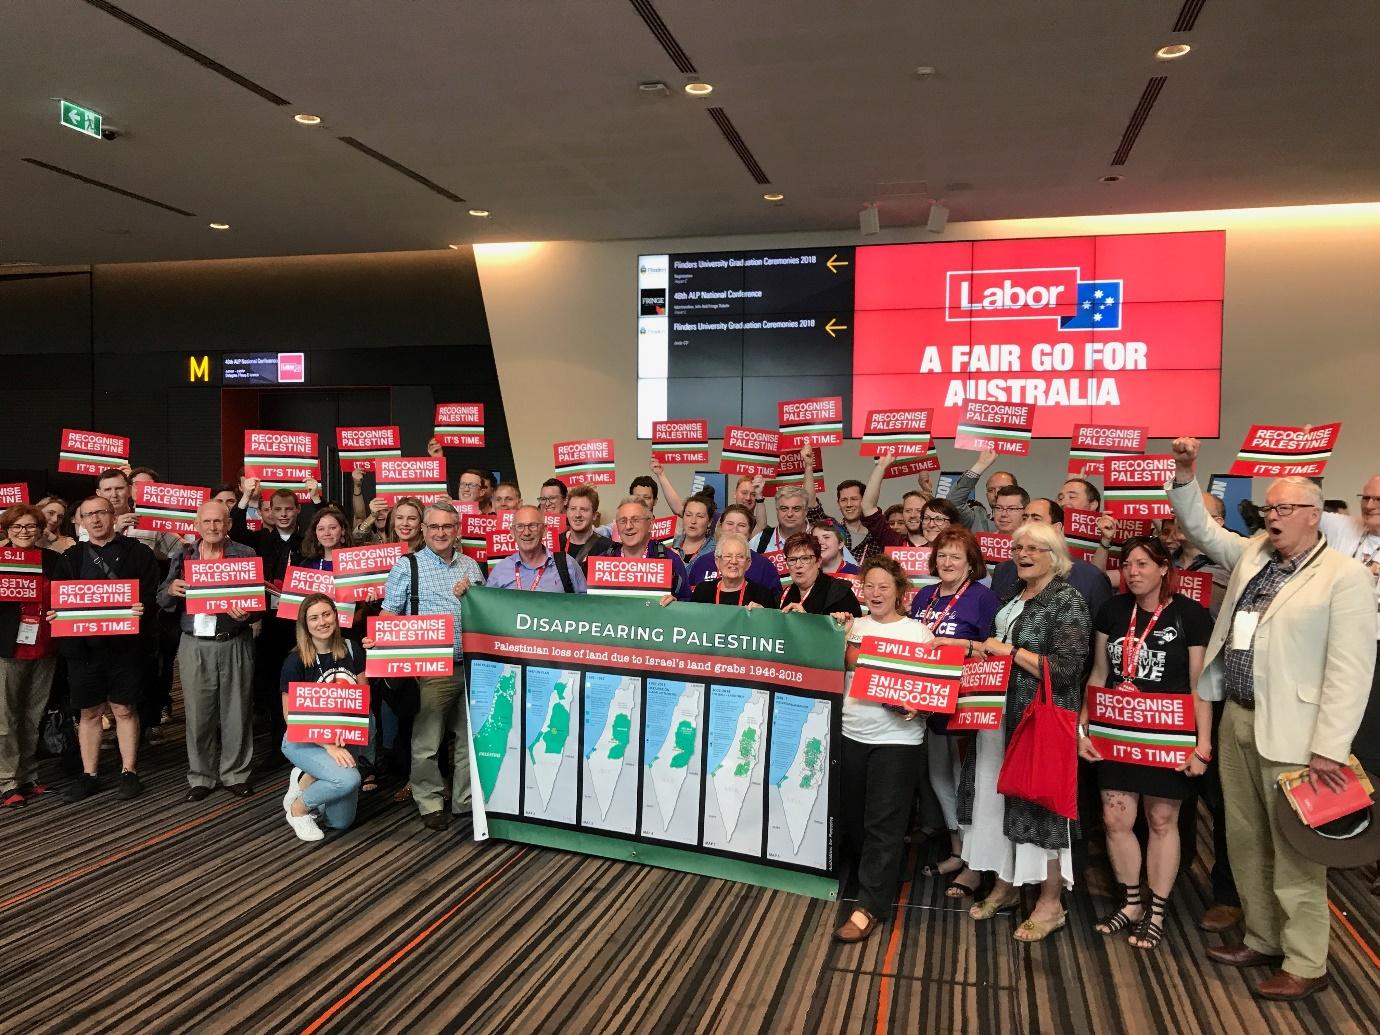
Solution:
<svg viewBox="0 0 1380 1035"><path fill-rule="evenodd" d="M782 399L1034 403L1075 424L1216 437L1225 235L686 253L638 262L638 433L660 420L774 428Z"/></svg>

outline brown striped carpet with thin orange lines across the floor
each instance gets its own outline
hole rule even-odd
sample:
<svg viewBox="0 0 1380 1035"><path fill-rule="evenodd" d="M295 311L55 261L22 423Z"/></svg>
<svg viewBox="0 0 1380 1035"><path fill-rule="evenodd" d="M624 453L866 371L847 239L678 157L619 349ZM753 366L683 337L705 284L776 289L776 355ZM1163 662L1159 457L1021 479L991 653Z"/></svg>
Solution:
<svg viewBox="0 0 1380 1035"><path fill-rule="evenodd" d="M172 740L181 726L164 727ZM148 791L0 814L0 1032L1372 1032L1380 898L1336 874L1332 989L1252 998L1203 960L1199 864L1155 954L1067 930L1012 941L937 882L900 925L835 945L845 905L421 827L391 795L302 845L286 769L246 800L182 802L179 742L146 752ZM113 749L102 756L116 767ZM55 782L61 777L46 773ZM1210 845L1210 838L1201 839ZM919 860L912 860L918 864ZM1263 976L1256 974L1256 976Z"/></svg>

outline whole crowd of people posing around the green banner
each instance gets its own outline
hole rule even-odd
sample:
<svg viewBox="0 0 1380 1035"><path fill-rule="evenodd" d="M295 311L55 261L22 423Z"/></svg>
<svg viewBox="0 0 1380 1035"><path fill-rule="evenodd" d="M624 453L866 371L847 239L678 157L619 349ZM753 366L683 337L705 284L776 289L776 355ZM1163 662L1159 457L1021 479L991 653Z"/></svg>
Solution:
<svg viewBox="0 0 1380 1035"><path fill-rule="evenodd" d="M439 447L432 443L432 451ZM94 491L55 497L0 515L4 542L41 551L37 602L0 603L0 806L43 795L36 765L50 698L76 716L80 773L65 788L77 802L110 787L98 771L105 726L113 724L121 798L141 793L139 748L170 715L174 673L186 727L186 798L217 788L253 793L255 719L291 763L283 798L287 824L302 840L344 829L362 793L392 765L421 822L444 829L469 806L469 740L461 635L472 586L582 593L593 556L665 558L667 607L716 604L832 615L847 643L849 678L865 636L948 644L966 658L1009 657L1000 729L951 731L947 716L923 715L845 696L839 752L842 857L856 874L856 908L835 931L868 938L896 898L916 802L936 817L941 858L926 876L951 898L972 898L985 922L1038 889L1014 937L1039 941L1065 926L1064 893L1081 879L1096 834L1119 886L1096 923L1104 937L1127 937L1152 951L1165 934L1166 904L1194 846L1180 831L1185 811L1208 803L1214 831L1213 894L1206 930L1241 927L1242 941L1213 948L1214 960L1264 966L1267 998L1297 999L1326 985L1329 916L1326 867L1283 836L1274 811L1276 777L1307 767L1336 787L1351 752L1380 770L1380 722L1372 693L1380 574L1380 476L1361 493L1361 515L1325 511L1307 479L1271 483L1252 537L1224 527L1221 501L1202 491L1198 443L1173 443L1167 486L1174 518L1154 534L1119 544L1098 526L1092 560L1075 559L1064 537L1065 508L1101 511L1087 479L1070 477L1035 495L1012 471L992 471L983 453L947 491L927 475L894 506L882 506L893 458L879 457L867 482L836 487L836 515L817 498L814 454L802 453L799 486L771 501L763 479L740 477L726 505L712 491L682 497L656 460L632 480L604 522L589 484L542 483L524 502L515 482L461 473L457 500L479 512L512 512L516 551L486 573L458 545L461 515L446 501L368 500L356 472L351 500L323 501L320 486L298 494L261 491L254 479L217 486L188 537L135 527L131 487L159 480L148 468L112 468ZM987 475L985 484L981 483ZM679 516L673 540L651 535L658 506ZM546 518L563 515L556 549L545 546ZM1012 535L1010 559L989 566L974 533ZM306 596L295 620L229 610L188 614L185 563L262 558L270 588L290 564L330 571L335 551L403 544L382 598L359 604L342 628L330 595ZM889 546L929 546L931 585L912 589ZM785 577L770 555L780 553ZM1112 570L1110 570L1112 567ZM1210 573L1210 609L1176 592L1177 573ZM47 584L54 580L134 580L137 635L54 638ZM357 682L373 647L370 614L454 615L455 671L418 680L403 707L374 694L366 747L294 744L283 736L287 687L299 680ZM1191 696L1195 747L1179 769L1105 759L1089 736L1089 686L1129 693ZM1041 696L1079 712L1079 820L998 791L1017 724ZM1369 711L1368 711L1368 701ZM1358 733L1359 730L1359 733ZM1144 822L1144 838L1138 824ZM1380 887L1377 887L1380 891Z"/></svg>

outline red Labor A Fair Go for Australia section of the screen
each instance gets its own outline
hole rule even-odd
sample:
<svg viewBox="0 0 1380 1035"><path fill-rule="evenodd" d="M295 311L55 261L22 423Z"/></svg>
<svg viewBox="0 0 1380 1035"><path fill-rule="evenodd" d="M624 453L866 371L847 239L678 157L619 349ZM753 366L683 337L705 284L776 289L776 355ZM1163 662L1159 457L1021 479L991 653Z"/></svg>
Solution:
<svg viewBox="0 0 1380 1035"><path fill-rule="evenodd" d="M1036 437L1076 424L1216 437L1225 235L857 248L850 433L871 410L1032 403Z"/></svg>

